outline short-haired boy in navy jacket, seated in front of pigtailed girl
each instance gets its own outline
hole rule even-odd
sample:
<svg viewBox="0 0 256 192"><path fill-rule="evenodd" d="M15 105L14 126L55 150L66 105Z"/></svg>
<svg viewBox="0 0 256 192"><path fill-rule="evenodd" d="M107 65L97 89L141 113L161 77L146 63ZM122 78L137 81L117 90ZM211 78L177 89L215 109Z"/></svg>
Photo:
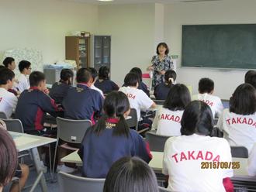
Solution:
<svg viewBox="0 0 256 192"><path fill-rule="evenodd" d="M77 87L71 87L62 102L64 118L88 119L94 124L96 116L102 111L102 95L91 89L92 74L86 68L78 70L77 82Z"/></svg>

